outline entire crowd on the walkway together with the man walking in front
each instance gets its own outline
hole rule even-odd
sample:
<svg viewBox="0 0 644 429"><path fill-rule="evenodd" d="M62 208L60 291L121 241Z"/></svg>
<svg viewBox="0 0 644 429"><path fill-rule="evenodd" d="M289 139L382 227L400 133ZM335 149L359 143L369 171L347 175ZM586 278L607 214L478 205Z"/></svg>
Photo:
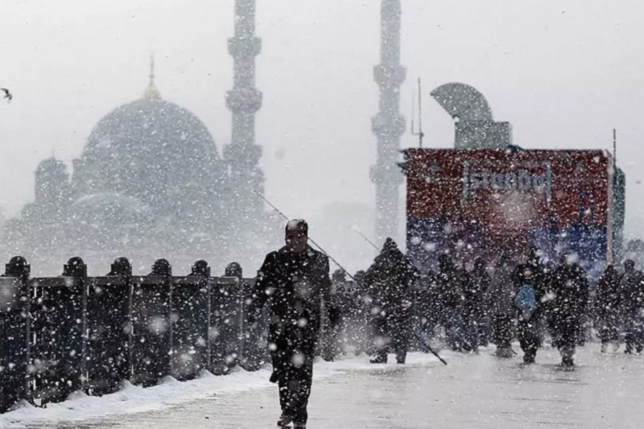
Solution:
<svg viewBox="0 0 644 429"><path fill-rule="evenodd" d="M286 225L285 242L258 272L248 320L256 326L261 309L270 308L279 426L305 428L314 358L334 359L347 346L371 354L372 363L386 363L391 353L403 364L412 347L431 351L439 332L452 350L478 353L493 343L503 358L516 354L518 339L529 364L549 334L562 366L571 367L594 327L602 352L617 350L622 336L626 353L644 348L644 274L631 260L623 271L608 265L596 284L574 255L553 263L536 248L522 260L479 258L469 269L442 254L437 271L420 272L388 238L374 263L348 281L341 270L329 276L328 256L308 245L304 220Z"/></svg>

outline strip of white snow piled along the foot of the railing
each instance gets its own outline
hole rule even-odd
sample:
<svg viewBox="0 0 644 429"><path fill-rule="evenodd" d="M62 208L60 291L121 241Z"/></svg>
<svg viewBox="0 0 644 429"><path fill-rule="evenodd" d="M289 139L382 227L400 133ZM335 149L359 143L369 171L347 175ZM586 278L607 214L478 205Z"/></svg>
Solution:
<svg viewBox="0 0 644 429"><path fill-rule="evenodd" d="M436 362L437 359L431 354L410 353L407 357L407 365L428 365ZM366 356L340 359L336 362L320 360L314 365L314 379L353 370L387 370L396 367L393 355L390 356L390 364L387 365L370 364ZM134 386L126 382L120 391L102 397L87 396L82 392L76 392L71 394L67 401L50 403L46 405L46 408L22 404L17 410L0 414L0 428L23 429L34 424L82 421L109 414L130 414L156 410L225 392L274 387L269 382L269 377L270 365L267 365L255 372L236 368L227 376L214 376L210 372L204 372L197 379L190 381L177 381L173 377L166 377L160 385L148 388Z"/></svg>

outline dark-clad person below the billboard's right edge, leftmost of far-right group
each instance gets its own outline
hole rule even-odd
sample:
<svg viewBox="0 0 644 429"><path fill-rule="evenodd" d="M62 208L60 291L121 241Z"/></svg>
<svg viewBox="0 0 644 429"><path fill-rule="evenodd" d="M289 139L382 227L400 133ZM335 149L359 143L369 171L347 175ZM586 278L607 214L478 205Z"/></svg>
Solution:
<svg viewBox="0 0 644 429"><path fill-rule="evenodd" d="M594 303L602 353L607 351L609 344L613 344L614 350L620 344L620 298L620 274L610 263L597 283Z"/></svg>

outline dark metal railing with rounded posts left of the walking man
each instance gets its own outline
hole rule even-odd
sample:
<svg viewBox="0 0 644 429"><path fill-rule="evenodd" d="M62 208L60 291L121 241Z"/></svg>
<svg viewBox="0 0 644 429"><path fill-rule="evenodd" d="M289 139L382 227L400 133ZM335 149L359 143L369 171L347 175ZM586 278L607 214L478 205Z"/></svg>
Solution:
<svg viewBox="0 0 644 429"><path fill-rule="evenodd" d="M254 279L209 270L88 277L84 265L76 268L29 278L26 262L10 263L0 277L0 412L77 390L115 392L124 380L150 386L202 370L254 370L269 356L267 318L263 329L245 329Z"/></svg>

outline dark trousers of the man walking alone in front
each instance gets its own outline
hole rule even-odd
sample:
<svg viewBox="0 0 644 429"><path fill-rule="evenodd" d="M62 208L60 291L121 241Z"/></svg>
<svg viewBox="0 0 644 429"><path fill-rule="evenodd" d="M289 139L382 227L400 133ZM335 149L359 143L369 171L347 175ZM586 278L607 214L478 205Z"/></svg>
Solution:
<svg viewBox="0 0 644 429"><path fill-rule="evenodd" d="M278 383L283 414L291 417L294 423L307 423L317 334L316 329L271 327L269 342L275 348L271 353L271 381Z"/></svg>

